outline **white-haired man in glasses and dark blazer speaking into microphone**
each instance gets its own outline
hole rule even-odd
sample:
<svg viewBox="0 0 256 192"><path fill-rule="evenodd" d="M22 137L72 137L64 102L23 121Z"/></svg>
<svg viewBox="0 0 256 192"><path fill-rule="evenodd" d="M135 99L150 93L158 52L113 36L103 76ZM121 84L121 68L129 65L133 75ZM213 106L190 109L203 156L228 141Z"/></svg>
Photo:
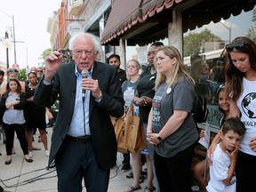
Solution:
<svg viewBox="0 0 256 192"><path fill-rule="evenodd" d="M55 159L59 192L82 191L83 179L86 191L106 192L117 150L110 116L124 115L123 93L116 69L96 61L97 36L78 33L68 48L75 63L61 65L60 50L47 56L34 97L46 107L60 94L49 164Z"/></svg>

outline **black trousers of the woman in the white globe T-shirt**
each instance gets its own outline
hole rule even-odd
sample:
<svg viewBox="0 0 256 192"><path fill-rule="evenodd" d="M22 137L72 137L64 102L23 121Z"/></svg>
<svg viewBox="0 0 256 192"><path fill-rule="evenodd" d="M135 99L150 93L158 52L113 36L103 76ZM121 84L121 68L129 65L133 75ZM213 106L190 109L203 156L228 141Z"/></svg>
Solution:
<svg viewBox="0 0 256 192"><path fill-rule="evenodd" d="M256 156L238 152L236 160L236 192L252 191L255 188Z"/></svg>

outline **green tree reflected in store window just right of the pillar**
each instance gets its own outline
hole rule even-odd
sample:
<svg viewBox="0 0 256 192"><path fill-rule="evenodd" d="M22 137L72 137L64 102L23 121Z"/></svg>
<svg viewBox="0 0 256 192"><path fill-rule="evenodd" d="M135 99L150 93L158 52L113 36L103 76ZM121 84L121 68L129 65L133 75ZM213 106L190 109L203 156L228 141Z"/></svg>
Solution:
<svg viewBox="0 0 256 192"><path fill-rule="evenodd" d="M188 36L184 36L184 57L203 52L205 42L220 41L220 36L215 36L208 28L200 33L189 33Z"/></svg>

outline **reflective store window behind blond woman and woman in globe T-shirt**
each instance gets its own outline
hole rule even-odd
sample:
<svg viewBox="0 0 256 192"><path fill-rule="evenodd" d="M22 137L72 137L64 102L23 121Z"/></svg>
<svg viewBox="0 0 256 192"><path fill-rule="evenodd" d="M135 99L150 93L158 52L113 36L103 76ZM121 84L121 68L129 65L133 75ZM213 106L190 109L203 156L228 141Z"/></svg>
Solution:
<svg viewBox="0 0 256 192"><path fill-rule="evenodd" d="M210 22L183 34L184 63L196 81L196 92L207 99L207 122L216 127L222 116L216 92L220 84L225 84L225 45L236 36L249 36L256 42L255 18L256 6L250 12L242 11L236 17L231 14L228 20Z"/></svg>

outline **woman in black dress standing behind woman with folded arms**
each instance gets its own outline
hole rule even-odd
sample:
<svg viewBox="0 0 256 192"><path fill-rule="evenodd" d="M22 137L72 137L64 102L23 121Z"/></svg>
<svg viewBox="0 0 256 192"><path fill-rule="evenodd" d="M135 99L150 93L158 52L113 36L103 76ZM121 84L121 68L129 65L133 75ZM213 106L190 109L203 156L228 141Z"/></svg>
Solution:
<svg viewBox="0 0 256 192"><path fill-rule="evenodd" d="M47 135L46 135L46 122L45 122L45 108L37 107L33 102L34 92L37 86L36 72L30 71L28 73L29 84L25 86L27 104L26 104L26 121L27 121L27 140L28 140L28 151L29 156L32 157L32 141L33 141L33 130L38 128L40 137L44 144L45 156L49 156L47 146Z"/></svg>

